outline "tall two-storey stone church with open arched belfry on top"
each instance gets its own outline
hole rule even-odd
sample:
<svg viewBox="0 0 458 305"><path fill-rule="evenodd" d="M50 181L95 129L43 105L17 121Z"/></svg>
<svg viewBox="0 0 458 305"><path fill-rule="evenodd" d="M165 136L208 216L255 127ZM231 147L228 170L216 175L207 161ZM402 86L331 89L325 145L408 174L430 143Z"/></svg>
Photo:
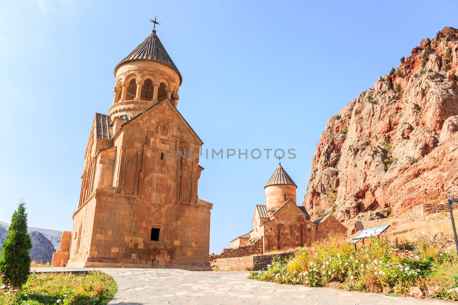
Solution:
<svg viewBox="0 0 458 305"><path fill-rule="evenodd" d="M96 113L78 209L53 266L211 270L210 210L197 196L196 132L177 109L182 82L156 30L114 68Z"/></svg>

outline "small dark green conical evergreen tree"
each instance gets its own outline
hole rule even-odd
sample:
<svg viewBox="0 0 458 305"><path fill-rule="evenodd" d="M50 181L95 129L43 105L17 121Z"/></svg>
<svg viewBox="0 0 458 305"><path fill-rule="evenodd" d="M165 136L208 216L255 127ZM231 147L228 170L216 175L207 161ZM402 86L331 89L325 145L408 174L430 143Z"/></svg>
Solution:
<svg viewBox="0 0 458 305"><path fill-rule="evenodd" d="M14 287L21 287L30 273L30 255L32 241L27 232L27 213L25 202L21 200L17 211L11 217L9 234L3 244L0 258L0 274L3 282L10 282Z"/></svg>

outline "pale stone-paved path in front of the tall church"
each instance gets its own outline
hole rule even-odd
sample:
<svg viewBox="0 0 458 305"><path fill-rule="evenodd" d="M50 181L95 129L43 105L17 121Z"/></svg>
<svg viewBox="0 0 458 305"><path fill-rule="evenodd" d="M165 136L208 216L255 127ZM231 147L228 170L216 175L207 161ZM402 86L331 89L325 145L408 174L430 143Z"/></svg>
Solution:
<svg viewBox="0 0 458 305"><path fill-rule="evenodd" d="M33 268L32 271L91 270ZM180 269L99 268L118 284L109 304L302 304L302 305L434 305L438 300L389 297L330 288L279 285L247 279L247 272L199 272Z"/></svg>

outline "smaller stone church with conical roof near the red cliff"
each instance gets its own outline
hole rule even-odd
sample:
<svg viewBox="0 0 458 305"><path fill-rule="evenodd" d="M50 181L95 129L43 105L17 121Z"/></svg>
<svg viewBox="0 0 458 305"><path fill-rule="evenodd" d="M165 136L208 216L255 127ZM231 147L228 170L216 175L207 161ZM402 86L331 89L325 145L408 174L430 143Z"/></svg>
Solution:
<svg viewBox="0 0 458 305"><path fill-rule="evenodd" d="M305 207L296 204L296 188L293 179L278 163L264 186L266 204L255 206L253 230L231 241L231 248L241 248L243 252L245 246L248 246L250 249L247 249L246 255L250 255L304 246L325 238L331 232L346 234L347 228L332 215L312 221ZM254 239L258 241L254 242ZM234 250L226 250L223 250L223 254L234 253ZM234 253L229 256L239 255Z"/></svg>

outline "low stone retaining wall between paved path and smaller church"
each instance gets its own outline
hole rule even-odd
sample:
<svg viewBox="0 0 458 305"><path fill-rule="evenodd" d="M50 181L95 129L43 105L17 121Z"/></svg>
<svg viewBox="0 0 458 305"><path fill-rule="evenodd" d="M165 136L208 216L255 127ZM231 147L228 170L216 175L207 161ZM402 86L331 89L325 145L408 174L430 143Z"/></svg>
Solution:
<svg viewBox="0 0 458 305"><path fill-rule="evenodd" d="M291 253L217 258L212 266L218 270L261 270L272 263L272 257L287 257L290 255Z"/></svg>

